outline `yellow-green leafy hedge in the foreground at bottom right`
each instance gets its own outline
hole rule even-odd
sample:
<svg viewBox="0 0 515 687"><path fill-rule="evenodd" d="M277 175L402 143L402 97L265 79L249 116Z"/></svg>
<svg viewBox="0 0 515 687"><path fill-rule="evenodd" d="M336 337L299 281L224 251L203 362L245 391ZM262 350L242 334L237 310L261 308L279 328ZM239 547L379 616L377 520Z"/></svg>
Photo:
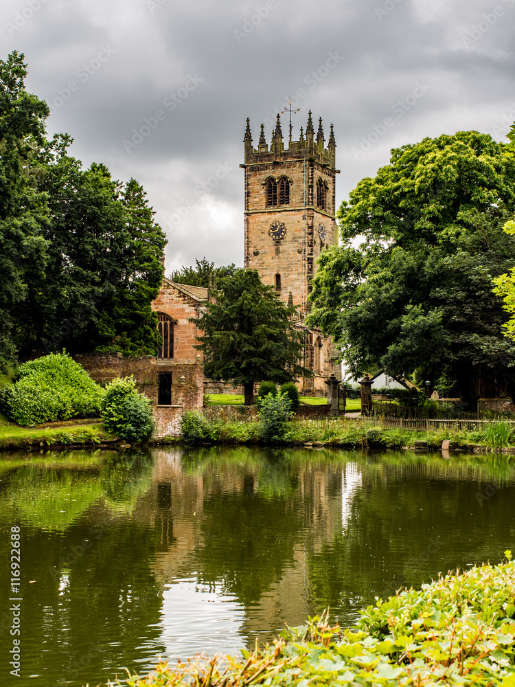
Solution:
<svg viewBox="0 0 515 687"><path fill-rule="evenodd" d="M330 625L324 614L239 657L161 663L147 677L115 684L513 687L514 602L514 563L483 565L377 599L350 629Z"/></svg>

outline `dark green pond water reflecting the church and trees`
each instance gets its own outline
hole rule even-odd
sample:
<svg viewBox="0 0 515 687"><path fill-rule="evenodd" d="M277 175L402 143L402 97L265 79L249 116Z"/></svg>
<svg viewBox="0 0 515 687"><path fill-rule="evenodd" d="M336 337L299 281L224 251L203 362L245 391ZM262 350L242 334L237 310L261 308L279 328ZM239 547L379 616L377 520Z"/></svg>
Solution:
<svg viewBox="0 0 515 687"><path fill-rule="evenodd" d="M0 454L0 684L236 653L514 548L509 458L187 447ZM20 528L21 601L10 534ZM21 677L10 675L19 603Z"/></svg>

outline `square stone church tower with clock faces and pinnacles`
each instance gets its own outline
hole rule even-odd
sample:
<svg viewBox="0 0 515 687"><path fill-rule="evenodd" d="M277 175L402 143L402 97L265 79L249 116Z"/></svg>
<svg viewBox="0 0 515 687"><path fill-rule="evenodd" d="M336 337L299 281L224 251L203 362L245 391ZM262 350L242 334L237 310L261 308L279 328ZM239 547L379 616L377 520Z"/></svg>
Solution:
<svg viewBox="0 0 515 687"><path fill-rule="evenodd" d="M264 284L275 287L285 303L306 315L317 258L338 243L335 208L336 142L331 124L325 148L322 120L314 135L311 111L306 134L284 148L281 120L270 146L264 126L258 148L249 120L244 137L244 264L257 269ZM290 296L291 294L291 296Z"/></svg>

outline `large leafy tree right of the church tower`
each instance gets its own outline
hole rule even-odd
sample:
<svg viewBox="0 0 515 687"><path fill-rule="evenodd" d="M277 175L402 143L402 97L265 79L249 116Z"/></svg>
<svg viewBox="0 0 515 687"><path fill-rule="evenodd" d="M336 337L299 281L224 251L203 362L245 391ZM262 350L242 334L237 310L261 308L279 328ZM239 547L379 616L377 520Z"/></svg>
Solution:
<svg viewBox="0 0 515 687"><path fill-rule="evenodd" d="M342 244L320 258L311 323L354 375L380 365L433 387L451 379L469 403L512 392L515 346L492 291L515 266L502 230L515 208L508 153L475 131L424 139L392 150L342 204Z"/></svg>

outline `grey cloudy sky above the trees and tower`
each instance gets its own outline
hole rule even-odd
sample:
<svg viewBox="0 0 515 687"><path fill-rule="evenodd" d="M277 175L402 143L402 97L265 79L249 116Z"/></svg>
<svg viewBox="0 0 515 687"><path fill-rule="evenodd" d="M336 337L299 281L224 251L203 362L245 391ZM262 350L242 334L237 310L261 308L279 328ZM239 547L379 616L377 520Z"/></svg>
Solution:
<svg viewBox="0 0 515 687"><path fill-rule="evenodd" d="M515 0L3 0L0 31L49 134L144 185L167 273L242 265L245 120L269 140L288 96L294 139L334 124L337 205L390 148L515 120Z"/></svg>

